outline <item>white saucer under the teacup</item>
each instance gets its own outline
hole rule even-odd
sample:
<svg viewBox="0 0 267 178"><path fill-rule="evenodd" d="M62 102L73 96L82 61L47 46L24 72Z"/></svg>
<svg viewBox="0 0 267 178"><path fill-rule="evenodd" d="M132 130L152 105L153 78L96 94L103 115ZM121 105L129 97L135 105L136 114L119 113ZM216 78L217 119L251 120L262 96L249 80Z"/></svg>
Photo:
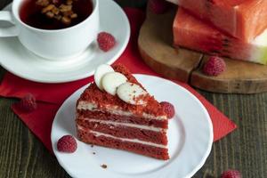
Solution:
<svg viewBox="0 0 267 178"><path fill-rule="evenodd" d="M10 9L11 4L5 8ZM0 38L0 65L19 77L42 83L70 82L89 77L100 64L116 61L130 37L129 21L114 1L100 0L100 20L101 31L108 31L117 39L117 45L108 53L101 52L94 42L75 59L49 61L30 53L17 37L7 37Z"/></svg>

